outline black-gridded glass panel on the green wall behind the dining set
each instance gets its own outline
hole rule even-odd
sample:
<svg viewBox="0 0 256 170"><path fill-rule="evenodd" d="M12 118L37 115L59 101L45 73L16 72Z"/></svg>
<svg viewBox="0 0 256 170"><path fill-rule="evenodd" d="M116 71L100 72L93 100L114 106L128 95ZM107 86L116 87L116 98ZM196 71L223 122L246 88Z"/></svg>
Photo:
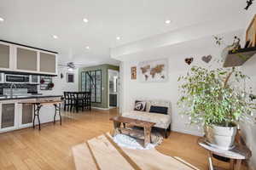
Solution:
<svg viewBox="0 0 256 170"><path fill-rule="evenodd" d="M83 71L81 73L81 90L91 91L91 102L102 103L102 71Z"/></svg>

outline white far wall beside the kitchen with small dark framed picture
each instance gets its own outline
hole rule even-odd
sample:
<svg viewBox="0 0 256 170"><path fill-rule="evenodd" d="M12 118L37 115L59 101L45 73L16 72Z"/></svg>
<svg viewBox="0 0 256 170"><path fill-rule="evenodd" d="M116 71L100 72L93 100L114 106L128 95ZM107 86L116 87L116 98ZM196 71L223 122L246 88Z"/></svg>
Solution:
<svg viewBox="0 0 256 170"><path fill-rule="evenodd" d="M74 74L74 82L67 82L67 72ZM61 73L63 78L61 79ZM78 91L79 90L79 71L78 69L74 71L68 71L67 67L58 67L58 77L53 77L53 82L55 87L52 90L40 90L38 87L39 94L49 94L49 95L63 95L64 91Z"/></svg>

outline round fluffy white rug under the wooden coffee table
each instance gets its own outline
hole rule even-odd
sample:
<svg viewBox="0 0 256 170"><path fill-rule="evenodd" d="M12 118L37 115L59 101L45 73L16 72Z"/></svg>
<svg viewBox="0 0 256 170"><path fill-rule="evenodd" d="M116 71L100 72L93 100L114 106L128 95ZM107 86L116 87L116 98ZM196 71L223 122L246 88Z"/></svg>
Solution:
<svg viewBox="0 0 256 170"><path fill-rule="evenodd" d="M137 129L138 130L138 129ZM131 133L119 133L113 137L113 141L120 147L129 148L132 150L150 150L155 146L159 145L163 141L163 137L158 132L151 133L152 143L148 144L145 148L143 147L143 130Z"/></svg>

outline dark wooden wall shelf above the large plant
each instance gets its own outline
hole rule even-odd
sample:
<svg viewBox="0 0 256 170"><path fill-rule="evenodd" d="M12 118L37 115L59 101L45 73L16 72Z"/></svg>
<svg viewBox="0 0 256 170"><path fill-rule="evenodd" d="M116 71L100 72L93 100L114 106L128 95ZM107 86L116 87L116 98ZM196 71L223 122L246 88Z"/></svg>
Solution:
<svg viewBox="0 0 256 170"><path fill-rule="evenodd" d="M256 47L253 48L241 48L233 52L229 51L224 59L224 67L233 67L243 65L248 59L256 54Z"/></svg>

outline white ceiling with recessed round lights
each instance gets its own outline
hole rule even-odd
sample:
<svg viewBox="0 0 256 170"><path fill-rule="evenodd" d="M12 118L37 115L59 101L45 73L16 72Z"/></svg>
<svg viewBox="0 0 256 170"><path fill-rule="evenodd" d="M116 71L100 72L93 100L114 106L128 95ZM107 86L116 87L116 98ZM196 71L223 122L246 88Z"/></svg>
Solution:
<svg viewBox="0 0 256 170"><path fill-rule="evenodd" d="M114 64L110 48L234 18L245 6L246 0L1 0L0 39L57 51L62 63ZM172 23L166 25L165 20Z"/></svg>

